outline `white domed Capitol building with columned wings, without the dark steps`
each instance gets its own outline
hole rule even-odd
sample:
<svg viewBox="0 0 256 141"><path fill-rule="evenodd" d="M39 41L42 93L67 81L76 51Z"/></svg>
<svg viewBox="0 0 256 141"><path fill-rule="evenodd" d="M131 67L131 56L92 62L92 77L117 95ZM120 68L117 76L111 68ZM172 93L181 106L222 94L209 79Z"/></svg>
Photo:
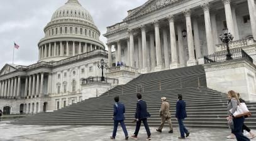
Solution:
<svg viewBox="0 0 256 141"><path fill-rule="evenodd" d="M0 109L11 114L51 112L143 73L204 63L209 88L240 91L255 101L255 7L253 0L148 0L107 28L106 51L89 11L78 0L69 0L44 28L38 63L1 69ZM234 52L234 60L214 61L226 50L218 38L223 28L234 36L230 48L242 48L240 59L235 60ZM101 59L109 66L104 70L107 83L100 83ZM118 62L123 65L116 66Z"/></svg>

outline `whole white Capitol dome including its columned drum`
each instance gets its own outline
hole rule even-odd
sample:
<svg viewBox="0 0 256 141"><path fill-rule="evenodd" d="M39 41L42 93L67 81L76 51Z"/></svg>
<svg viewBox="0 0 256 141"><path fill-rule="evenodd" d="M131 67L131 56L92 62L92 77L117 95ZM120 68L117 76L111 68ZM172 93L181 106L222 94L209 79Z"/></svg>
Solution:
<svg viewBox="0 0 256 141"><path fill-rule="evenodd" d="M104 50L91 14L78 0L68 0L52 15L38 43L38 61L60 61L72 56Z"/></svg>

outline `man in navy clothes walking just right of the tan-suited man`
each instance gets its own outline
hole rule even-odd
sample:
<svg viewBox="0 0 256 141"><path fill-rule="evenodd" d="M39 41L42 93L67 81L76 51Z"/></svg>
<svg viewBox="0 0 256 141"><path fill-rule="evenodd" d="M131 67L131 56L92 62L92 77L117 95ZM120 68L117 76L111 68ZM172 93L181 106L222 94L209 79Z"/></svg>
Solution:
<svg viewBox="0 0 256 141"><path fill-rule="evenodd" d="M186 112L186 103L184 100L182 100L182 95L178 95L178 101L176 103L176 114L175 114L176 120L179 122L179 131L181 132L181 137L180 139L185 139L184 133L186 133L186 137L189 137L189 131L185 127L183 121L187 117L187 112Z"/></svg>

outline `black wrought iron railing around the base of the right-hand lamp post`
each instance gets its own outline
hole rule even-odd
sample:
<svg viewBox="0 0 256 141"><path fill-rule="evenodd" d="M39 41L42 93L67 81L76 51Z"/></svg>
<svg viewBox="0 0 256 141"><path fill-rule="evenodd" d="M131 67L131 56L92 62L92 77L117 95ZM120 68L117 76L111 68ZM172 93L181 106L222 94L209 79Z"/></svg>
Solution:
<svg viewBox="0 0 256 141"><path fill-rule="evenodd" d="M213 55L205 55L204 64L226 61L227 54L228 51L220 51L214 53ZM245 58L246 60L253 63L253 59L245 51L243 51L242 48L235 48L233 50L230 50L230 54L232 55L231 57L233 58L233 60Z"/></svg>

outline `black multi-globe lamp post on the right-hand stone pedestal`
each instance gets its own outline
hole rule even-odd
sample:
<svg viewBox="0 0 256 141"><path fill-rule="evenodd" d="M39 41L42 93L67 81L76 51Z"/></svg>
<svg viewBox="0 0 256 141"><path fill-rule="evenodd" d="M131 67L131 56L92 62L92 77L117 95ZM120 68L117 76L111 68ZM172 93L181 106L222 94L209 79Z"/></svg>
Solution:
<svg viewBox="0 0 256 141"><path fill-rule="evenodd" d="M221 41L226 44L226 60L233 60L232 54L230 53L230 47L228 46L234 39L233 35L228 33L228 28L223 29L223 35L221 34L220 37Z"/></svg>

